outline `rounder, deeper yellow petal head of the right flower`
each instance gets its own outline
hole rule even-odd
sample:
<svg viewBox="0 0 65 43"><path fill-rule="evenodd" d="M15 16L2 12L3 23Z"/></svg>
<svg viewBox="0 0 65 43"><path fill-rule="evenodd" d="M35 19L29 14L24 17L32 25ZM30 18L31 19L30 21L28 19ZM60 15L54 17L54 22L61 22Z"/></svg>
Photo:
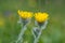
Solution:
<svg viewBox="0 0 65 43"><path fill-rule="evenodd" d="M36 13L35 14L35 19L38 22L38 23L43 23L48 19L48 13Z"/></svg>

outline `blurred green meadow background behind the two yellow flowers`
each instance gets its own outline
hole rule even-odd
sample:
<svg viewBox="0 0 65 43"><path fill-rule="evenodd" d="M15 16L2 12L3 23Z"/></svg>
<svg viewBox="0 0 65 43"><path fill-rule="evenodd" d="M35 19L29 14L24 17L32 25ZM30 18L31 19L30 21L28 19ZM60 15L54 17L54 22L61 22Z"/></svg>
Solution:
<svg viewBox="0 0 65 43"><path fill-rule="evenodd" d="M38 43L65 43L65 0L0 0L0 43L14 43L21 31L17 10L49 13L49 24ZM32 43L31 27L24 34L24 43Z"/></svg>

